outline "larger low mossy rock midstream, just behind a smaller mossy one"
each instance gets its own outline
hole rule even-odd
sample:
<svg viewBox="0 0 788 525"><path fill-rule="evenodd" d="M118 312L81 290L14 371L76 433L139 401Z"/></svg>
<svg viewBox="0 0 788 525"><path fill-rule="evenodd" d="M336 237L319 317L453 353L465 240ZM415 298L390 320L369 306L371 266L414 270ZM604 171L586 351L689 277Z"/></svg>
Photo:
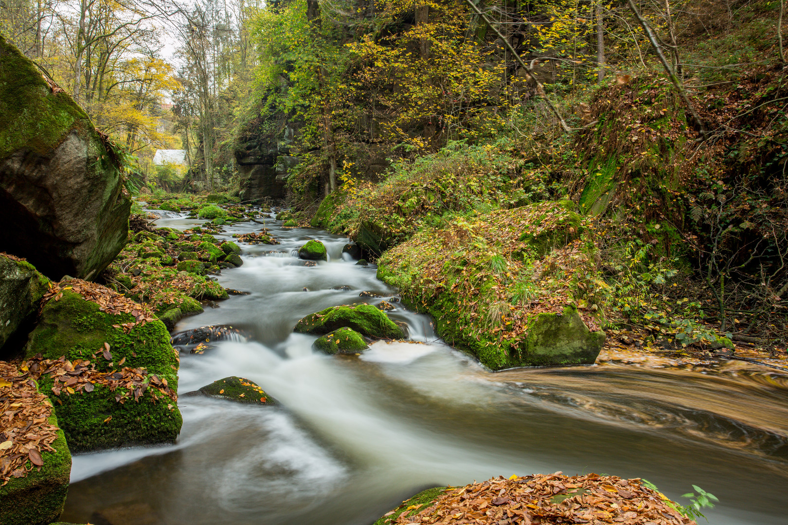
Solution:
<svg viewBox="0 0 788 525"><path fill-rule="evenodd" d="M376 339L401 339L403 331L373 305L332 306L299 320L294 329L302 334L328 334L348 327Z"/></svg>

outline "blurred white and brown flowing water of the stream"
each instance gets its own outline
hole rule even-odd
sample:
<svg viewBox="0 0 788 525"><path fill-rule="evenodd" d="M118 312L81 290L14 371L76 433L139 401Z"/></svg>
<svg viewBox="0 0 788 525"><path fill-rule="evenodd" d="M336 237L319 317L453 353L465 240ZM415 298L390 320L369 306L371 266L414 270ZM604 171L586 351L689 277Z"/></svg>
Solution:
<svg viewBox="0 0 788 525"><path fill-rule="evenodd" d="M281 406L180 397L176 445L74 457L63 521L368 525L427 486L593 471L649 479L673 498L701 486L721 500L710 523L788 523L788 376L615 361L491 373L400 303L390 315L407 322L411 342L377 342L360 357L314 353L313 336L292 332L301 317L395 290L343 259L347 238L265 223L281 245L243 245L243 266L218 277L250 294L177 326L230 324L248 340L182 354L179 391L240 375ZM308 238L325 243L328 262L299 261ZM351 290L332 290L342 286Z"/></svg>

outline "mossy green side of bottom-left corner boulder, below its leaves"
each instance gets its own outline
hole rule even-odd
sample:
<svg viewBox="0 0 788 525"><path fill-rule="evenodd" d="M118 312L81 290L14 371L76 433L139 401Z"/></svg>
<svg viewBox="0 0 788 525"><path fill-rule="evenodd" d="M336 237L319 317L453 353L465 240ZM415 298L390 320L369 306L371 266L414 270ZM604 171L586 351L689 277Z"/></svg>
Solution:
<svg viewBox="0 0 788 525"><path fill-rule="evenodd" d="M58 425L54 409L49 423ZM0 486L2 525L49 525L60 517L71 475L71 453L62 430L51 446L54 452L41 453L41 470L34 468Z"/></svg>

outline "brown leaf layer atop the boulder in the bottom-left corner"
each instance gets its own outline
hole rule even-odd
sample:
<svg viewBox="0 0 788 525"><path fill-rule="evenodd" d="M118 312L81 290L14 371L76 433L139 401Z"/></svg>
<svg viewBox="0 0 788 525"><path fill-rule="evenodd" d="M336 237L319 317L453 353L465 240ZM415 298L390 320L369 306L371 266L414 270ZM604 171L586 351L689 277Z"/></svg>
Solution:
<svg viewBox="0 0 788 525"><path fill-rule="evenodd" d="M42 452L52 452L58 427L49 423L52 404L40 394L32 374L0 361L0 479L24 478L43 466ZM28 461L30 464L28 465Z"/></svg>

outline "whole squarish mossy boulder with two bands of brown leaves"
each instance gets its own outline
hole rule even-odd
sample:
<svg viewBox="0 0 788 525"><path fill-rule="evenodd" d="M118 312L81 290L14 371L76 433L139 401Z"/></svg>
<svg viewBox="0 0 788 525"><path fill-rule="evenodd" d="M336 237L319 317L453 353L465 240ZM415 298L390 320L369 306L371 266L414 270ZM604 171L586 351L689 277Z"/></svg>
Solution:
<svg viewBox="0 0 788 525"><path fill-rule="evenodd" d="M39 383L58 405L69 447L84 452L175 442L182 423L178 355L165 325L108 288L76 280L68 285L43 306L26 353L49 361L65 357L65 364L47 365L56 372Z"/></svg>

